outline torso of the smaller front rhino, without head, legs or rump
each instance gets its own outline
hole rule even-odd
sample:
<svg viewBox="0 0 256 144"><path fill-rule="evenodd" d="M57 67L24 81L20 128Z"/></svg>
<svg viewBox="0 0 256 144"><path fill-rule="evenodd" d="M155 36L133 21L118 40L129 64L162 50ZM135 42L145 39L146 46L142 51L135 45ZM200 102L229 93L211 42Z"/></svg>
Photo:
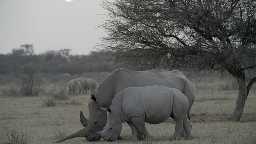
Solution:
<svg viewBox="0 0 256 144"><path fill-rule="evenodd" d="M174 94L179 90L162 85L130 87L118 93L112 101L111 110L121 110L123 121L131 117L145 117L145 122L158 124L172 114Z"/></svg>

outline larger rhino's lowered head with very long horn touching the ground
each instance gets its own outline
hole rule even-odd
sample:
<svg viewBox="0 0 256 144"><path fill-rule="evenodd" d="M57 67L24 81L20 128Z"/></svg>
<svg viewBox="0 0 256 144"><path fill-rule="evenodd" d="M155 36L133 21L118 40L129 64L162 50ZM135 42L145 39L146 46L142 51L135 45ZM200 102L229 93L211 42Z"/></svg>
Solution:
<svg viewBox="0 0 256 144"><path fill-rule="evenodd" d="M96 99L95 94L92 94L92 97L88 103L88 108L88 120L84 117L82 111L80 111L80 121L84 128L54 143L63 142L65 140L76 137L85 137L86 140L90 142L98 141L101 139L101 136L96 132L103 130L103 127L107 123L107 114L104 110L101 109L100 102Z"/></svg>

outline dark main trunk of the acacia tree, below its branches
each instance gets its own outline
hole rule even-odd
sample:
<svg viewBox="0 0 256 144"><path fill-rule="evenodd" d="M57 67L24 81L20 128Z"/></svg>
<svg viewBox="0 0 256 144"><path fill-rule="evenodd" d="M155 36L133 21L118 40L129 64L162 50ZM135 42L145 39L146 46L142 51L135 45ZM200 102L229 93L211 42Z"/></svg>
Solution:
<svg viewBox="0 0 256 144"><path fill-rule="evenodd" d="M236 108L230 118L231 121L240 121L240 118L243 114L244 110L244 104L245 100L248 96L247 94L247 89L246 89L246 84L244 78L241 78L241 75L233 75L236 80L238 81L238 86L239 86L239 94L238 94L238 99L236 100Z"/></svg>

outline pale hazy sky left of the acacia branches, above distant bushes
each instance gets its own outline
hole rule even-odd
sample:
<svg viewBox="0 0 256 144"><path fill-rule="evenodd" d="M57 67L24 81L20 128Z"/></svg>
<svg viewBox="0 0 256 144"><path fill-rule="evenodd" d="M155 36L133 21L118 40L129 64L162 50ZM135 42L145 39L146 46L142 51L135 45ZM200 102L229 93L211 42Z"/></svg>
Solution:
<svg viewBox="0 0 256 144"><path fill-rule="evenodd" d="M103 21L101 0L0 0L0 53L21 44L33 44L36 54L72 49L72 54L93 51L104 35L95 26Z"/></svg>

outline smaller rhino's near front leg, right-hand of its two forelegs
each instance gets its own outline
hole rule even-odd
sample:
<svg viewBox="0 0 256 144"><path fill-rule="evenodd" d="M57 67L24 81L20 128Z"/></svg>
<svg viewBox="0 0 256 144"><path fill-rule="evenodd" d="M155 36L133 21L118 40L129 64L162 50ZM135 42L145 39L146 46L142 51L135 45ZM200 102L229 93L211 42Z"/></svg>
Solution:
<svg viewBox="0 0 256 144"><path fill-rule="evenodd" d="M148 134L148 131L145 126L145 118L142 118L140 116L135 116L135 117L132 117L131 119L134 125L136 126L136 128L138 129L138 131L140 132L140 134L144 136L144 140L152 140L152 136Z"/></svg>

